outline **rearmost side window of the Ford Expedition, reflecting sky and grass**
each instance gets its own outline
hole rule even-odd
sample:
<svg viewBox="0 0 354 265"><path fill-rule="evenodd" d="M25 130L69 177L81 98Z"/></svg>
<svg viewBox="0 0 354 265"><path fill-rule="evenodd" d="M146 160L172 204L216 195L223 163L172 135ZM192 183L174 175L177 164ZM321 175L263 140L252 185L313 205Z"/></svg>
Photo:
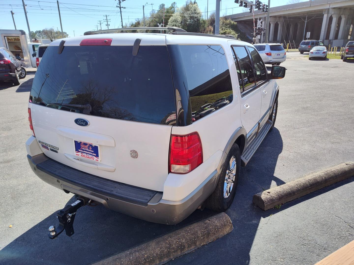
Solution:
<svg viewBox="0 0 354 265"><path fill-rule="evenodd" d="M219 45L180 45L193 120L233 100L230 71Z"/></svg>

